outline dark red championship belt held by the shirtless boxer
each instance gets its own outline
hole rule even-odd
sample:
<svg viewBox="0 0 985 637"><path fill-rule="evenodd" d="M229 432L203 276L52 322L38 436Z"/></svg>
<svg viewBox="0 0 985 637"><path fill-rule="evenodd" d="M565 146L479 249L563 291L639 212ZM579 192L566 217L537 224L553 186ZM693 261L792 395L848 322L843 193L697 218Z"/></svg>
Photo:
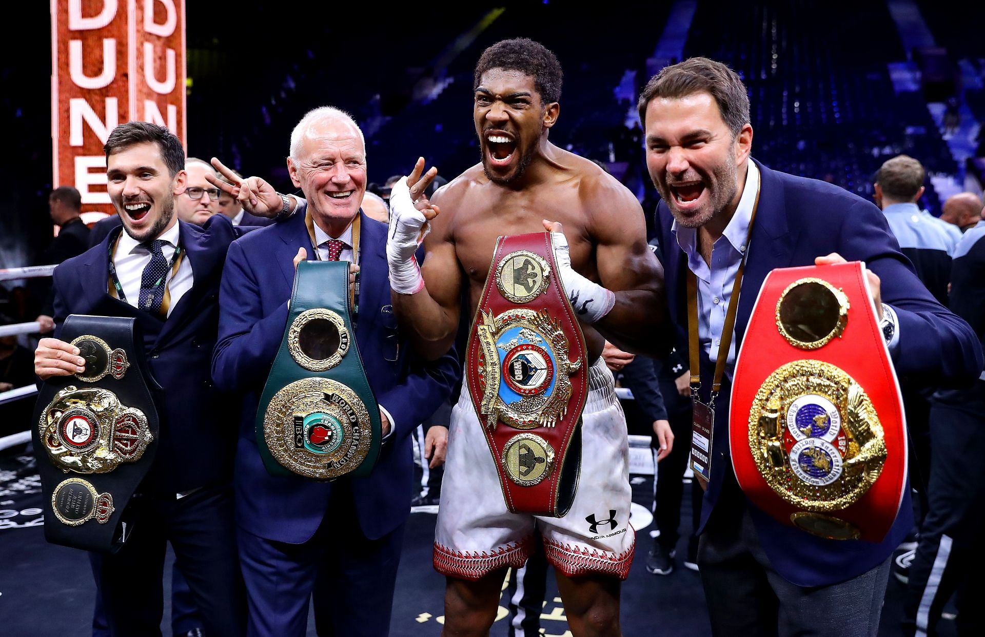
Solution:
<svg viewBox="0 0 985 637"><path fill-rule="evenodd" d="M585 340L549 232L500 236L465 374L513 513L562 517L581 464Z"/></svg>

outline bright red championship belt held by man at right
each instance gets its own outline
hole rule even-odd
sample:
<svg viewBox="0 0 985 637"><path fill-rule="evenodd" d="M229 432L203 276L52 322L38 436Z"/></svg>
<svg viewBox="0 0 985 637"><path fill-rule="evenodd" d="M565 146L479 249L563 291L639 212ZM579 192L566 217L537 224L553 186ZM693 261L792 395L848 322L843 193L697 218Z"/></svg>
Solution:
<svg viewBox="0 0 985 637"><path fill-rule="evenodd" d="M773 270L732 388L732 464L776 520L882 541L906 483L899 385L860 262Z"/></svg>

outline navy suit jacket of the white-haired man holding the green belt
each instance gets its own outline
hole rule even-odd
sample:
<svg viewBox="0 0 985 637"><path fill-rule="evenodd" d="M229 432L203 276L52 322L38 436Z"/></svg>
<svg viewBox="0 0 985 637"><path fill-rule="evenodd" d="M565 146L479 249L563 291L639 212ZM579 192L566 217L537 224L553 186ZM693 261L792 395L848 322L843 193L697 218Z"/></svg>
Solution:
<svg viewBox="0 0 985 637"><path fill-rule="evenodd" d="M448 397L459 377L454 350L426 364L400 337L390 305L386 231L385 223L362 215L356 342L376 401L395 420L394 433L380 450L373 473L348 480L362 533L371 540L407 519L414 473L410 434ZM291 543L307 541L317 531L333 483L268 474L256 446L254 422L287 327L294 258L300 247L309 259L314 258L303 205L291 219L232 244L220 293L219 344L212 361L216 384L242 401L233 478L236 522L255 536Z"/></svg>

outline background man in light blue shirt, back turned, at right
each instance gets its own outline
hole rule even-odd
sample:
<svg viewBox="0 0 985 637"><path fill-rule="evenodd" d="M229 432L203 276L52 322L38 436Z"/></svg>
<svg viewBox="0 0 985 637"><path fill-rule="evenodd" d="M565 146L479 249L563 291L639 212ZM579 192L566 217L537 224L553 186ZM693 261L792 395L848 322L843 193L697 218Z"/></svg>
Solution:
<svg viewBox="0 0 985 637"><path fill-rule="evenodd" d="M905 155L888 159L876 173L876 201L917 277L934 298L947 305L953 245L951 237L937 226L941 222L931 221L917 206L926 175L916 159Z"/></svg>

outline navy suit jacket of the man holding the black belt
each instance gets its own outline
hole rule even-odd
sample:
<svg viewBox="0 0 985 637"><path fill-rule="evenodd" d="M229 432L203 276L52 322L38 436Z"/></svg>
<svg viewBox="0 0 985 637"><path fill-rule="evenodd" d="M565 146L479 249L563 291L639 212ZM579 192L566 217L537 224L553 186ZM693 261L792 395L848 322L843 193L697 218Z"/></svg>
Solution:
<svg viewBox="0 0 985 637"><path fill-rule="evenodd" d="M178 222L178 240L194 284L164 321L108 293L109 242L121 230L110 230L54 272L56 337L69 314L134 317L141 326L151 373L162 387L156 397L161 439L145 481L148 490L173 494L230 478L234 446L209 363L219 323L223 263L240 231L220 217L203 227Z"/></svg>

